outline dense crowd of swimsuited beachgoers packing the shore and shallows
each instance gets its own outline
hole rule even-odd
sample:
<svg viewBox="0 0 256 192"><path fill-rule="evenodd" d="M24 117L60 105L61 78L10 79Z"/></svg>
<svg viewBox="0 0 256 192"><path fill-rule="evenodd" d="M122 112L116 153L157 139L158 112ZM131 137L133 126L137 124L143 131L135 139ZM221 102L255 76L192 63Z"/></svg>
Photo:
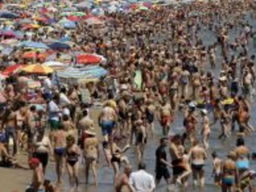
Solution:
<svg viewBox="0 0 256 192"><path fill-rule="evenodd" d="M79 191L79 167L85 167L86 185L92 171L97 187L99 164L106 164L113 169L116 191L148 192L158 189L162 178L169 190L172 185L187 188L190 178L193 186L204 188L204 166L211 156L212 182L221 191L255 191L256 172L250 169L254 154L246 146L247 136L254 133L250 114L255 82L255 55L249 51L255 28L246 18L255 20L255 8L250 0L195 1L108 14L107 30L80 21L73 31L24 36L24 40L42 41L68 35L76 44L71 51L106 57L103 67L109 74L87 83L90 102L86 103L78 84L56 86L53 74L28 99L23 86L28 74L10 75L1 106L0 166L32 169L27 191L64 191L66 172L70 191ZM210 33L214 43L203 39L203 32ZM1 57L1 62L28 62L21 54L16 51ZM140 81L135 80L138 74ZM92 119L96 101L102 105L98 119ZM172 130L177 113L183 114L182 134ZM236 137L236 147L226 157L220 157L209 143L216 125L220 125L216 128L220 140ZM156 157L155 175L151 175L144 151L155 140L160 144L150 154ZM137 165L126 155L131 148ZM30 167L17 162L22 151ZM49 160L56 165L56 185L45 179Z"/></svg>

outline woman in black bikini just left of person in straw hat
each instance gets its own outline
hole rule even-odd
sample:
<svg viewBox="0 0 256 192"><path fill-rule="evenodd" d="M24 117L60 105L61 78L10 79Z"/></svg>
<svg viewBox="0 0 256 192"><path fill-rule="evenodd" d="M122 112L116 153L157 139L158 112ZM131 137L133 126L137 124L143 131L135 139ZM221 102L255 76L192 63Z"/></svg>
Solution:
<svg viewBox="0 0 256 192"><path fill-rule="evenodd" d="M69 173L70 191L74 191L74 187L79 188L79 156L80 149L75 144L75 138L72 135L66 138L66 159L67 159L67 172Z"/></svg>

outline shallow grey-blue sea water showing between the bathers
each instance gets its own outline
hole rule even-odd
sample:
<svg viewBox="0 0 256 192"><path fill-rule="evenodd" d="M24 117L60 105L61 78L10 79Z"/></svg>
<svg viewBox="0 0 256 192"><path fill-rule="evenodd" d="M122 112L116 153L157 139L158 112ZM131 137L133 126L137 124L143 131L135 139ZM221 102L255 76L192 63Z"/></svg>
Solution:
<svg viewBox="0 0 256 192"><path fill-rule="evenodd" d="M254 30L256 27L256 22L250 20L250 24L253 25ZM236 35L235 30L231 31L231 39L234 38ZM213 42L216 41L215 36L213 35L212 31L204 31L202 30L200 36L202 36L203 43L204 44L212 44ZM217 64L220 65L220 48L218 48L218 57L217 57ZM253 47L253 44L250 43L249 46L249 52L250 54L255 54L255 48ZM209 67L207 67L209 70ZM218 74L220 72L220 69L216 69L213 71L218 77ZM252 102L252 115L251 115L251 123L253 126L256 125L256 105L255 102ZM210 118L212 119L212 114L210 114ZM161 135L161 128L158 122L155 122L155 127L156 127L156 135ZM179 130L179 128L182 127L182 114L177 112L176 117L174 120L174 123L171 125L171 129L173 130ZM234 148L235 141L236 141L236 136L231 136L227 138L226 140L219 140L218 135L220 134L220 124L216 123L213 127L211 127L211 135L210 135L210 149L208 149L208 155L209 158L207 160L207 164L205 165L205 188L204 189L199 189L199 188L192 188L190 185L186 190L182 189L176 189L174 191L207 191L207 192L215 192L215 191L220 191L220 188L216 188L213 185L213 178L211 177L211 171L212 171L212 166L211 166L211 157L210 154L212 151L217 151L218 156L221 158L225 158L226 154L229 150ZM249 148L251 149L251 152L256 152L256 149L254 146L256 146L256 133L253 133L252 135L248 136L245 138L245 143ZM145 162L147 164L147 171L155 175L155 149L158 146L158 139L155 140L150 140L146 146L145 149ZM127 151L127 156L129 157L130 162L133 165L134 170L137 169L137 161L136 161L136 156L135 156L135 149L131 148L129 151ZM256 162L251 161L250 166L252 169L256 170ZM84 175L84 164L80 165L80 188L81 191L90 191L90 192L110 192L114 191L113 190L113 169L106 167L106 163L103 160L103 154L101 152L101 161L100 161L100 169L98 170L98 180L99 180L99 186L98 188L95 188L93 184L91 185L85 185L85 175ZM170 170L171 171L171 170ZM56 173L54 171L54 164L51 163L49 164L47 173L46 173L46 178L50 178L51 180L56 180ZM65 174L64 177L64 190L63 191L69 191L69 180L67 177L67 173ZM93 178L90 177L90 183L93 183ZM191 178L190 178L190 183L191 183ZM161 181L159 188L156 191L167 191L166 190L166 185L164 180Z"/></svg>

